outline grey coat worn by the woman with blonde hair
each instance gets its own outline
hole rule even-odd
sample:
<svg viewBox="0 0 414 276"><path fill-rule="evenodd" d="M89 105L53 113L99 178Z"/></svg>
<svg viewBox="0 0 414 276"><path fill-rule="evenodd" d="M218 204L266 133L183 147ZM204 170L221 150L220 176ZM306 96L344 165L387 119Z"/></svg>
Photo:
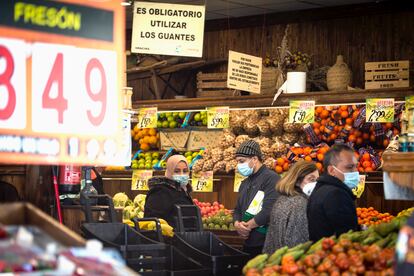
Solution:
<svg viewBox="0 0 414 276"><path fill-rule="evenodd" d="M272 254L283 246L293 247L309 240L307 203L304 194L278 196L270 214L264 253Z"/></svg>

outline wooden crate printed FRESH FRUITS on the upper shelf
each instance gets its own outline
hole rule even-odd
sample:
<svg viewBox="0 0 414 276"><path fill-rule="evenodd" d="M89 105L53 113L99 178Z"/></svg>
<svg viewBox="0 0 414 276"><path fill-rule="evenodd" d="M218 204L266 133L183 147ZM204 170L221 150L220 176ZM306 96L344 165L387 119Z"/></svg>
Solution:
<svg viewBox="0 0 414 276"><path fill-rule="evenodd" d="M366 62L365 89L409 87L408 60Z"/></svg>

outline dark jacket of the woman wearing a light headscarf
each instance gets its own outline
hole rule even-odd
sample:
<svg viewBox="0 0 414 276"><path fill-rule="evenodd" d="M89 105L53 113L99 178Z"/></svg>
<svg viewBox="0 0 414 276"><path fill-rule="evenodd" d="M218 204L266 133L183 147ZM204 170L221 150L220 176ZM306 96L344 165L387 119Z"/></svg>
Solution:
<svg viewBox="0 0 414 276"><path fill-rule="evenodd" d="M166 177L153 177L148 181L149 191L145 199L144 217L165 219L175 226L174 205L193 205L189 194L180 188L180 184Z"/></svg>

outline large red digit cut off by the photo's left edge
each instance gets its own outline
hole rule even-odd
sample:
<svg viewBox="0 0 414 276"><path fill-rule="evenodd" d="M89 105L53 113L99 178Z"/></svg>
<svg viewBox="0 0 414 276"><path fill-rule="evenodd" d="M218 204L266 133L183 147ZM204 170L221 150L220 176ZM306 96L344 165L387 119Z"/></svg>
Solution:
<svg viewBox="0 0 414 276"><path fill-rule="evenodd" d="M2 45L0 45L0 58L1 57L6 59L6 69L3 74L0 75L0 86L6 86L8 100L6 106L0 109L0 120L7 120L11 117L14 108L16 107L16 91L11 84L11 77L14 72L14 62L9 50Z"/></svg>

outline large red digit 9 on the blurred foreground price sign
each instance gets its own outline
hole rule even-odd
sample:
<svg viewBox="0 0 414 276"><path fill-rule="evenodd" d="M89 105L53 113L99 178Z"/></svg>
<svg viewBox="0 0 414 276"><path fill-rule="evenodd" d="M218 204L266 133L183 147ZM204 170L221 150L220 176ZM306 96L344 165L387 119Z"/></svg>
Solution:
<svg viewBox="0 0 414 276"><path fill-rule="evenodd" d="M91 72L92 69L96 68L100 75L101 75L101 89L98 93L92 93L91 89ZM86 65L85 71L85 79L86 79L86 91L88 92L89 97L95 102L101 102L101 111L97 116L93 116L91 110L87 111L88 119L94 126L99 126L103 119L105 118L105 111L106 111L106 76L105 70L101 64L101 62L93 58L91 59L88 64Z"/></svg>

